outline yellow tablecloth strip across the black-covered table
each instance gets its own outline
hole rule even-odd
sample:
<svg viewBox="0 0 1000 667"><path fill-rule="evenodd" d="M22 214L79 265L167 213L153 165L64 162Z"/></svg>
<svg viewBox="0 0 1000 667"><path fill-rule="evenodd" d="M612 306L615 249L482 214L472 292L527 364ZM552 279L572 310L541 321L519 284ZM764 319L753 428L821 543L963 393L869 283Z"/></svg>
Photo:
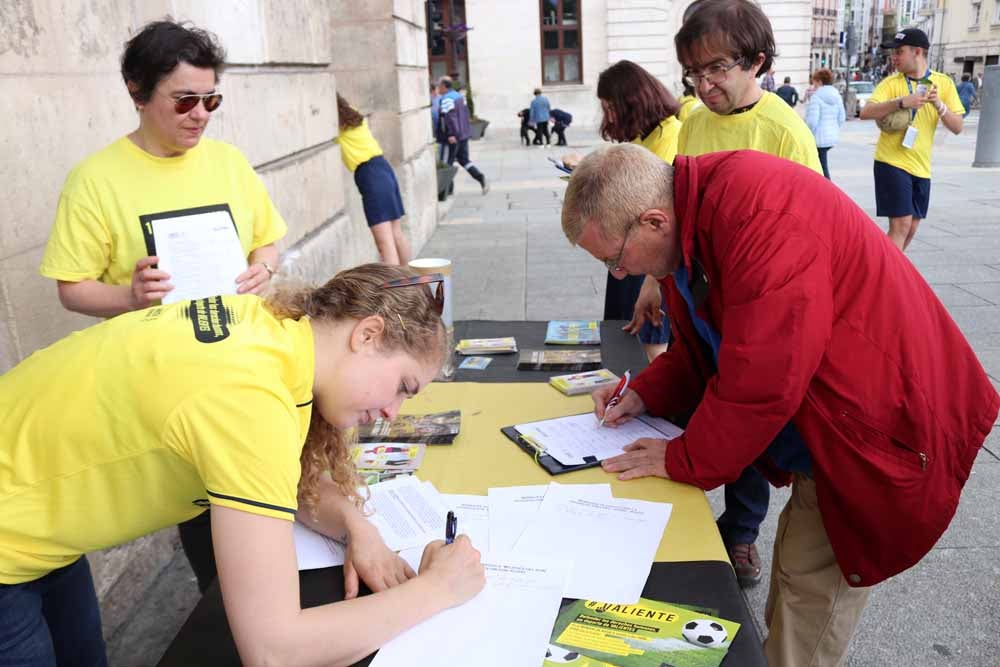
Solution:
<svg viewBox="0 0 1000 667"><path fill-rule="evenodd" d="M663 478L620 482L600 468L549 475L504 436L504 426L587 412L590 396L563 396L542 383L434 382L407 401L411 414L462 411L462 431L452 445L430 445L417 472L442 493L485 494L491 486L590 484L608 482L616 498L655 500L673 505L656 551L657 562L728 562L705 494Z"/></svg>

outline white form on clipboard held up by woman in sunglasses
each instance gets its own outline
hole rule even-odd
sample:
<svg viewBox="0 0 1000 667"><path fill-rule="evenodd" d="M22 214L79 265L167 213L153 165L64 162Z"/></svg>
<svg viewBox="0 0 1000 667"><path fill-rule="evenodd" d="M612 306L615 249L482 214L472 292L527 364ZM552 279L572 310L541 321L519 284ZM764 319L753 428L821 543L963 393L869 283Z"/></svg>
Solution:
<svg viewBox="0 0 1000 667"><path fill-rule="evenodd" d="M236 276L247 270L247 260L229 211L182 211L151 224L157 266L174 286L163 303L236 294Z"/></svg>

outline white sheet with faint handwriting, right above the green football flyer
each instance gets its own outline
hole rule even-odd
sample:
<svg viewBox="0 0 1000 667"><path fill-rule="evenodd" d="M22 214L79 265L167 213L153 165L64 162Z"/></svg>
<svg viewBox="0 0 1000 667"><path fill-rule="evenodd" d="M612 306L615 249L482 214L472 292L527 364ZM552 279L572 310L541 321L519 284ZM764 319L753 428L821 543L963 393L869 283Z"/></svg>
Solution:
<svg viewBox="0 0 1000 667"><path fill-rule="evenodd" d="M573 562L568 598L634 604L642 594L671 506L645 500L580 497L552 485L515 553Z"/></svg>

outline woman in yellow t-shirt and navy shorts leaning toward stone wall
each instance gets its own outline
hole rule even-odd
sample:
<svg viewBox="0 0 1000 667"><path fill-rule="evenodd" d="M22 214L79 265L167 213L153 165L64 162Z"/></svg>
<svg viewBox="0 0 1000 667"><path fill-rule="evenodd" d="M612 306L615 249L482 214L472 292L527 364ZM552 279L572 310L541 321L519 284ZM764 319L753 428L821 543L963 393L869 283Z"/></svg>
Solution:
<svg viewBox="0 0 1000 667"><path fill-rule="evenodd" d="M386 264L406 265L411 259L410 242L400 222L406 212L396 173L382 157L382 148L368 129L364 116L339 93L337 113L340 134L335 141L340 144L344 165L354 173L354 184L361 193L365 219L375 238L375 246Z"/></svg>

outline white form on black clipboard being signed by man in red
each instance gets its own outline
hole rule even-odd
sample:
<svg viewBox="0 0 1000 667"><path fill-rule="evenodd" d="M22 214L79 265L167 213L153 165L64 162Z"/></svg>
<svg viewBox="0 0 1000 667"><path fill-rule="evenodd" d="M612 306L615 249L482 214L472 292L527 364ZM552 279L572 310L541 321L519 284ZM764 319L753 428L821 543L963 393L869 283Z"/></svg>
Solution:
<svg viewBox="0 0 1000 667"><path fill-rule="evenodd" d="M621 426L600 426L593 413L557 417L514 427L540 445L546 454L563 465L585 463L583 457L594 456L598 461L617 456L626 445L639 438L672 439L683 429L666 419L642 415Z"/></svg>

